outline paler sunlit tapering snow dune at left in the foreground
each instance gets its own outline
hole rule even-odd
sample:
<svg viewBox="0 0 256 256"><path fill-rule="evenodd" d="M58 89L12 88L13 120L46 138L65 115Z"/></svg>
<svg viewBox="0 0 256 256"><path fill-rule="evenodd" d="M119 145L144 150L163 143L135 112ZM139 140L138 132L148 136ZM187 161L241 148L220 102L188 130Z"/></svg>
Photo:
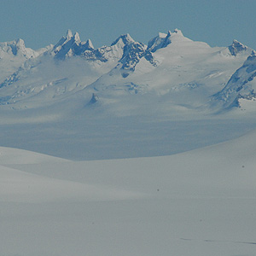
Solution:
<svg viewBox="0 0 256 256"><path fill-rule="evenodd" d="M112 201L135 198L129 191L70 182L0 166L0 202Z"/></svg>

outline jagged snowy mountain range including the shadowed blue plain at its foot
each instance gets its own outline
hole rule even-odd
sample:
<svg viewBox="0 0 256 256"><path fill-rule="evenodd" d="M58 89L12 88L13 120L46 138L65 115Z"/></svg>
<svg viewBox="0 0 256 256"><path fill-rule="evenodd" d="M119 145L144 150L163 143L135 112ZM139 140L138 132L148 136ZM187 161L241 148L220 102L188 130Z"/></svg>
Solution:
<svg viewBox="0 0 256 256"><path fill-rule="evenodd" d="M256 127L253 49L174 32L95 49L70 30L43 49L0 44L0 141L72 160L174 154Z"/></svg>

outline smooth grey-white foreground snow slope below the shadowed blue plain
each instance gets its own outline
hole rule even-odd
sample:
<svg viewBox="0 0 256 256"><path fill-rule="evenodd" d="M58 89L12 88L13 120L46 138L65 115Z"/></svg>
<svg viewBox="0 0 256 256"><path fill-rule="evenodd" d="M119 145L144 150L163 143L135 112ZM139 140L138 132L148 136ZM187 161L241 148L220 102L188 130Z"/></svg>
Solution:
<svg viewBox="0 0 256 256"><path fill-rule="evenodd" d="M130 160L23 152L0 168L0 254L253 256L255 140Z"/></svg>

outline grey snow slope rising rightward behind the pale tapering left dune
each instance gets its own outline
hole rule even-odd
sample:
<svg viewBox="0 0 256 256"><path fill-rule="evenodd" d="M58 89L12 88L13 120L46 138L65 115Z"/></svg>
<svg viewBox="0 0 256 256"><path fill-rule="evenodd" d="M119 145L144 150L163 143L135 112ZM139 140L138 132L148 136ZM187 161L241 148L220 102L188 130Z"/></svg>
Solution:
<svg viewBox="0 0 256 256"><path fill-rule="evenodd" d="M241 197L254 191L255 164L256 131L170 156L7 166L73 182L136 189L148 195L160 189L167 197Z"/></svg>

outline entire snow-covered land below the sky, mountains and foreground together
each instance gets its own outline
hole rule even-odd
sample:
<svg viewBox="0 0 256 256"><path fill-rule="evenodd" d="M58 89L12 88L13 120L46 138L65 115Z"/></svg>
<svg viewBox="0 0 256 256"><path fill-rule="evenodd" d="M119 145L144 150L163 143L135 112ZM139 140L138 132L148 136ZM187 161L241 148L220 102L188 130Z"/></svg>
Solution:
<svg viewBox="0 0 256 256"><path fill-rule="evenodd" d="M253 49L68 31L0 67L0 256L256 255Z"/></svg>

